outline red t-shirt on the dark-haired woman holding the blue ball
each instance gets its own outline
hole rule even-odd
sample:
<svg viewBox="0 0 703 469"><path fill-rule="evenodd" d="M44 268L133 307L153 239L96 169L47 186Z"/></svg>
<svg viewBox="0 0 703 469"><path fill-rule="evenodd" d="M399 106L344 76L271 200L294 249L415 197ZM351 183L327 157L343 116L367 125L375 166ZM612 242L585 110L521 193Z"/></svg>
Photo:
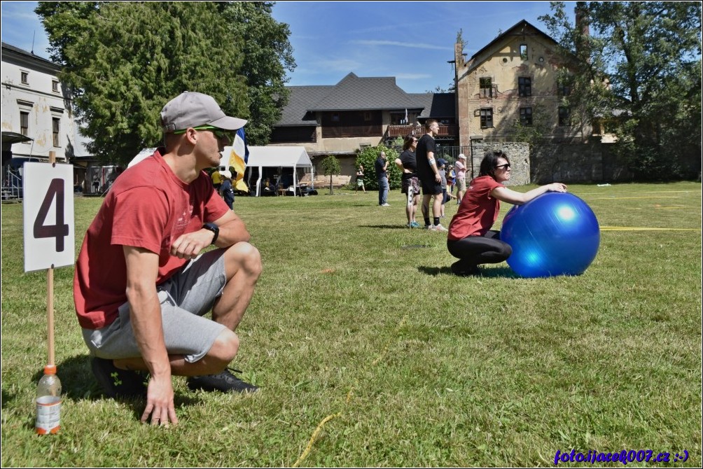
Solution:
<svg viewBox="0 0 703 469"><path fill-rule="evenodd" d="M449 224L447 239L484 236L498 219L501 202L491 197L496 187L505 187L491 176L479 176L469 183L459 210Z"/></svg>

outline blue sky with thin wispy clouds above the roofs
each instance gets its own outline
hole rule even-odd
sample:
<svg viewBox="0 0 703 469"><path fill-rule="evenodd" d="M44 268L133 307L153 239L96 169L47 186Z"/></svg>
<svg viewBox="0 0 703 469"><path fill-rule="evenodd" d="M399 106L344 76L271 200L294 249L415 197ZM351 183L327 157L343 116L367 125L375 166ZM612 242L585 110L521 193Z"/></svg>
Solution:
<svg viewBox="0 0 703 469"><path fill-rule="evenodd" d="M567 2L572 14L576 2ZM37 2L2 2L2 40L49 58ZM548 1L279 1L273 18L290 25L297 67L290 85L336 84L349 72L359 77L396 77L408 93L448 89L453 81L453 44L463 30L468 57L527 20L550 13Z"/></svg>

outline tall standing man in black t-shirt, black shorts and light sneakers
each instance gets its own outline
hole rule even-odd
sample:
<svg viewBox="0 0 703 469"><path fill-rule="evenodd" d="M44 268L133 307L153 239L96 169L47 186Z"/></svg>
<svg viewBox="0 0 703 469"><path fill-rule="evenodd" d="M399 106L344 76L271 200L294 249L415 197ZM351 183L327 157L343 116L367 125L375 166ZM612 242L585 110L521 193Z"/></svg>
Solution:
<svg viewBox="0 0 703 469"><path fill-rule="evenodd" d="M418 177L420 186L423 188L423 217L425 218L425 228L432 231L447 231L439 224L439 214L441 212L441 176L437 169L437 162L434 160L434 136L439 131L439 124L434 119L425 122L425 135L420 137L418 147L415 150L415 159L418 164ZM430 224L430 199L434 196L432 203L432 216L434 223Z"/></svg>

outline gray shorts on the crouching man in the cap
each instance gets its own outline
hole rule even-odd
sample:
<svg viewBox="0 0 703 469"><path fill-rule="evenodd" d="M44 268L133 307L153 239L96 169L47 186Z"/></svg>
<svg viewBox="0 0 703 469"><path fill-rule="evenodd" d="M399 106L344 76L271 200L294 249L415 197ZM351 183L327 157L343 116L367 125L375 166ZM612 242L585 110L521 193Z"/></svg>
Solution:
<svg viewBox="0 0 703 469"><path fill-rule="evenodd" d="M189 363L198 361L225 329L202 317L222 295L226 283L223 254L223 249L205 252L156 287L169 355L184 355ZM103 359L141 356L131 326L129 303L122 304L117 319L109 326L83 329L83 340L92 354Z"/></svg>

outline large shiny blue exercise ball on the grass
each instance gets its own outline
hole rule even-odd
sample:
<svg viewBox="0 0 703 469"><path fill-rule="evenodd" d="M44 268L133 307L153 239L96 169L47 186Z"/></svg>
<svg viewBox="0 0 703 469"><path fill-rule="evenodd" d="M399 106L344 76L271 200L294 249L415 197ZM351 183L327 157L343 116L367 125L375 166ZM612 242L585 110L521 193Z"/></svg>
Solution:
<svg viewBox="0 0 703 469"><path fill-rule="evenodd" d="M520 276L580 275L598 252L600 228L576 195L547 192L505 214L501 240L512 248L508 265Z"/></svg>

